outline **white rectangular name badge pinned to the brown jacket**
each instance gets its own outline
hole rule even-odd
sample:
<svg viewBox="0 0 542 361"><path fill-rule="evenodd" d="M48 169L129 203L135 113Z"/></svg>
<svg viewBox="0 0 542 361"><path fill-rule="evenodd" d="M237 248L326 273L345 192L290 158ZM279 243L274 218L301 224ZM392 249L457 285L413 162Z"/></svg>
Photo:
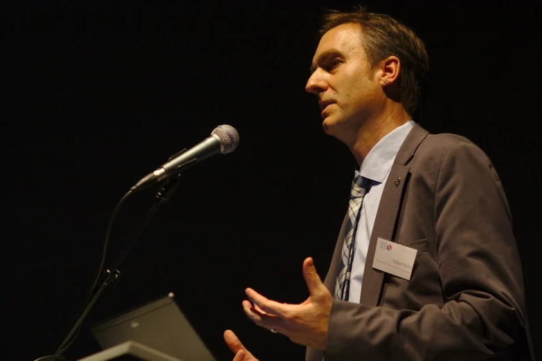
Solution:
<svg viewBox="0 0 542 361"><path fill-rule="evenodd" d="M377 239L377 249L374 251L372 268L410 281L417 252L414 248L386 241L386 239L379 237Z"/></svg>

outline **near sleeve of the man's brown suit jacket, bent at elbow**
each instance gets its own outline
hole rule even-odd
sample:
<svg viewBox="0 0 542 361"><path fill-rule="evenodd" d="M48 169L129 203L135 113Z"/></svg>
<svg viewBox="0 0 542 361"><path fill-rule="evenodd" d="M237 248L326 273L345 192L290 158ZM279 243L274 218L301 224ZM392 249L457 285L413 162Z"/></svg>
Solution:
<svg viewBox="0 0 542 361"><path fill-rule="evenodd" d="M523 277L512 217L487 156L459 142L435 171L443 305L418 311L334 300L326 361L510 360L524 337ZM439 168L437 166L437 168Z"/></svg>

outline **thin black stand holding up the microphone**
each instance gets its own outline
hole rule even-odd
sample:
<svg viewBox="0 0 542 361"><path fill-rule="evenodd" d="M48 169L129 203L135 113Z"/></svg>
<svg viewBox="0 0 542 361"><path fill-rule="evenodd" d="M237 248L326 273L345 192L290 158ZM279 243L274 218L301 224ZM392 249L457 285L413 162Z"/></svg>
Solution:
<svg viewBox="0 0 542 361"><path fill-rule="evenodd" d="M93 290L91 290L91 294L89 295L89 298L87 299L87 302L84 304L82 311L79 313L77 320L75 320L75 324L73 324L73 327L69 331L68 335L64 338L60 346L58 347L57 351L55 352L55 355L52 356L46 356L45 358L39 358L35 361L45 361L45 360L55 360L58 359L66 349L70 346L71 342L75 338L75 333L78 332L78 329L80 328L84 317L87 316L89 311L91 310L92 306L96 303L98 300L98 297L102 294L102 292L105 290L105 288L116 281L118 281L120 277L120 270L118 270L118 266L120 266L120 263L125 259L127 256L129 250L134 245L134 241L138 237L139 233L145 225L150 221L151 217L156 213L156 210L165 202L168 202L172 195L174 194L175 190L179 186L179 178L181 177L181 174L178 174L177 176L172 176L171 178L168 178L165 180L165 183L163 186L159 189L158 192L156 192L156 201L150 208L149 212L147 212L147 215L145 216L145 219L143 219L143 223L139 226L138 230L126 243L123 250L120 251L120 254L118 255L116 261L113 263L113 266L105 271L105 275L102 277L101 284L98 283L99 286L94 287Z"/></svg>

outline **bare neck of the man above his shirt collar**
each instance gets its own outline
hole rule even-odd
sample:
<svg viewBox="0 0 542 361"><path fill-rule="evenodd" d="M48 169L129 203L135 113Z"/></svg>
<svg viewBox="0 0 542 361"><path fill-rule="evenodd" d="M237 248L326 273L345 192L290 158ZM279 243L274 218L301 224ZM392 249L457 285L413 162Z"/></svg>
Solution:
<svg viewBox="0 0 542 361"><path fill-rule="evenodd" d="M363 160L377 142L411 119L410 115L400 107L365 122L359 129L355 142L350 147L350 151L356 158L358 165L363 163Z"/></svg>

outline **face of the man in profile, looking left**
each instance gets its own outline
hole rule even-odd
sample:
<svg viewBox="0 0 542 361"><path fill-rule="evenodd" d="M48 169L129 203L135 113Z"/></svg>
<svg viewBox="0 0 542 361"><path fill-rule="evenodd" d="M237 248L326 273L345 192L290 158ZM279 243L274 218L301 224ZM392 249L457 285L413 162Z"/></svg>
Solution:
<svg viewBox="0 0 542 361"><path fill-rule="evenodd" d="M323 129L347 145L378 111L383 93L365 54L359 24L342 24L324 34L305 89L318 97Z"/></svg>

